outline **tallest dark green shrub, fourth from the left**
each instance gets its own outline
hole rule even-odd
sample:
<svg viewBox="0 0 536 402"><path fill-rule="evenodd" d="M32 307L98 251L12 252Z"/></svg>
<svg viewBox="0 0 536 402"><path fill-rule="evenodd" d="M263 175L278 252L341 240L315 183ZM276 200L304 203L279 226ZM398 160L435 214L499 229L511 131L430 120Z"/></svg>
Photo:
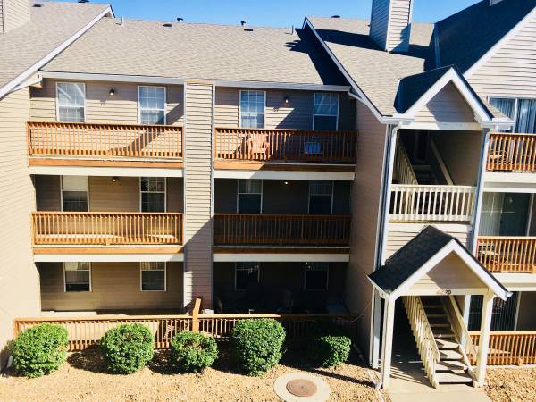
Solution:
<svg viewBox="0 0 536 402"><path fill-rule="evenodd" d="M230 345L243 373L261 375L279 363L284 342L285 329L281 323L266 318L237 322Z"/></svg>

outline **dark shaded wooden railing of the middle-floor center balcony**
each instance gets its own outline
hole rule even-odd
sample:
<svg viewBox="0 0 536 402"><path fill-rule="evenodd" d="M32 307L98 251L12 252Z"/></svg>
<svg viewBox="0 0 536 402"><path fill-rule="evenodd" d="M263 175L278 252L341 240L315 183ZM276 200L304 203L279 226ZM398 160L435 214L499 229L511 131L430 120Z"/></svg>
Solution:
<svg viewBox="0 0 536 402"><path fill-rule="evenodd" d="M215 245L348 246L349 215L215 214Z"/></svg>

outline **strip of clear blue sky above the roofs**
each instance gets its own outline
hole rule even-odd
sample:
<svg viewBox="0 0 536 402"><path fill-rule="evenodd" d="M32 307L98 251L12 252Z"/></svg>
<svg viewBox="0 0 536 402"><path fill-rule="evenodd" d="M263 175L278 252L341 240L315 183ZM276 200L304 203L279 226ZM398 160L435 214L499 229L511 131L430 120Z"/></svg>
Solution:
<svg viewBox="0 0 536 402"><path fill-rule="evenodd" d="M290 27L305 15L369 18L372 0L108 0L118 17ZM91 0L106 3L106 0ZM477 0L415 0L414 21L435 22Z"/></svg>

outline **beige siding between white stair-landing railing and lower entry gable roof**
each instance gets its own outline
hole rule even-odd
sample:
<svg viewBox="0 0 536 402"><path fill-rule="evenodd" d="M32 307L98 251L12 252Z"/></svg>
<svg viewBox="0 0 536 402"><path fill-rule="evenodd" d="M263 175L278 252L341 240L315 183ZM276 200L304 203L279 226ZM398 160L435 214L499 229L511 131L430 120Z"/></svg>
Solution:
<svg viewBox="0 0 536 402"><path fill-rule="evenodd" d="M423 223L389 223L386 257L395 254L400 248L415 238L427 224ZM445 231L456 239L460 240L462 245L469 247L471 226L464 224L435 225L438 229Z"/></svg>

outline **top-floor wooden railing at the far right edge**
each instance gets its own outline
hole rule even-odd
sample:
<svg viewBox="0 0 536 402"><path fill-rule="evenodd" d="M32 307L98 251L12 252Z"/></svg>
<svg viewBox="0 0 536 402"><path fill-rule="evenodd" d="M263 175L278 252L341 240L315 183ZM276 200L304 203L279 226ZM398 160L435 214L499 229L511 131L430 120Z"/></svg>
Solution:
<svg viewBox="0 0 536 402"><path fill-rule="evenodd" d="M491 134L487 169L500 172L536 171L536 134Z"/></svg>

